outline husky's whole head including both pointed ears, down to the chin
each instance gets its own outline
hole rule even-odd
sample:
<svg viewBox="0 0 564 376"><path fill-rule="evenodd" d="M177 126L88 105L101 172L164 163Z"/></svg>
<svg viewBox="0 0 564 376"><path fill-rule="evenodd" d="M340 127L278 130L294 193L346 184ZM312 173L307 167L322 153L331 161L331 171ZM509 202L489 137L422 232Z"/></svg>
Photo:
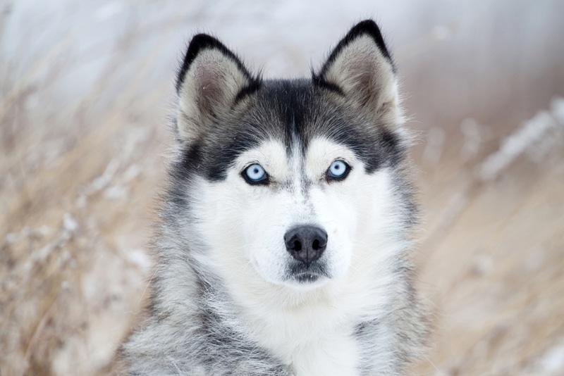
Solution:
<svg viewBox="0 0 564 376"><path fill-rule="evenodd" d="M374 23L354 27L312 80L262 81L197 35L177 89L176 192L202 264L314 289L375 262L402 220L391 170L407 145Z"/></svg>

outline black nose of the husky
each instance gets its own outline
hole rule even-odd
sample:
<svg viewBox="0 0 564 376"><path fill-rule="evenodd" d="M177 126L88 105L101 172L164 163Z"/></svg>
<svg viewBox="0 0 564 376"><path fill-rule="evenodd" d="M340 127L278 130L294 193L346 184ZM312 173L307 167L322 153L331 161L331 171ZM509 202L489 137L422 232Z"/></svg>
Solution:
<svg viewBox="0 0 564 376"><path fill-rule="evenodd" d="M293 258L309 266L325 251L327 233L314 226L294 227L284 234L284 243Z"/></svg>

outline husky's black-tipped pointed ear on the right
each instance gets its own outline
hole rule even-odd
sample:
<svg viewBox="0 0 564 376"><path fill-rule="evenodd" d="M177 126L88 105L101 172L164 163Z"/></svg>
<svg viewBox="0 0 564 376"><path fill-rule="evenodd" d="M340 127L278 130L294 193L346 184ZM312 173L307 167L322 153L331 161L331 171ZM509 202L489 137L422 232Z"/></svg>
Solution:
<svg viewBox="0 0 564 376"><path fill-rule="evenodd" d="M319 75L313 75L313 80L379 117L399 115L393 62L373 20L355 25L333 49Z"/></svg>

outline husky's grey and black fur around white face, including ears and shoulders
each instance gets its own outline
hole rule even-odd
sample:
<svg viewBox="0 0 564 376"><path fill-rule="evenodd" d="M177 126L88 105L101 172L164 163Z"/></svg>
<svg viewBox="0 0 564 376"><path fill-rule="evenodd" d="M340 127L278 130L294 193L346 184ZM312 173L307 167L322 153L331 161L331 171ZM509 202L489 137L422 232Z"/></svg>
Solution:
<svg viewBox="0 0 564 376"><path fill-rule="evenodd" d="M178 151L154 237L158 262L150 282L148 318L123 345L128 375L309 376L296 373L292 364L274 355L274 349L245 331L248 322L226 281L202 263L210 249L198 230L202 213L194 207L201 200L199 182L224 181L226 170L245 150L276 139L286 145L288 155L304 153L319 135L352 150L368 175L391 171L397 203L393 215L399 225L386 237L401 246L384 260L381 271L374 270L387 273L377 287L387 297L385 303L373 310L379 312L374 317L350 319L351 338L360 353L357 373L398 375L422 355L427 325L408 261L417 223L405 156L409 139L400 124L391 58L374 27L372 21L364 21L353 28L312 80L252 77L231 51L205 36L189 47L178 80ZM362 37L375 42L355 44ZM201 51L207 51L206 64L197 60ZM366 66L364 59L369 60ZM355 64L347 65L351 60L364 66L362 74L356 74ZM211 94L204 89L208 84ZM305 191L316 184L303 180ZM273 184L272 189L283 192L290 184ZM314 293L300 293L300 299L303 296Z"/></svg>

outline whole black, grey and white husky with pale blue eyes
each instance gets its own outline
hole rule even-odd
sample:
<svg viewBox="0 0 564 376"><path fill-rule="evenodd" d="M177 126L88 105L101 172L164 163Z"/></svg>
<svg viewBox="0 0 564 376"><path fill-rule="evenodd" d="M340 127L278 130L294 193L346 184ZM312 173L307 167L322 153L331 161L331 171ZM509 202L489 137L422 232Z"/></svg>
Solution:
<svg viewBox="0 0 564 376"><path fill-rule="evenodd" d="M262 80L209 35L178 74L178 145L129 375L399 375L422 354L410 137L378 26Z"/></svg>

